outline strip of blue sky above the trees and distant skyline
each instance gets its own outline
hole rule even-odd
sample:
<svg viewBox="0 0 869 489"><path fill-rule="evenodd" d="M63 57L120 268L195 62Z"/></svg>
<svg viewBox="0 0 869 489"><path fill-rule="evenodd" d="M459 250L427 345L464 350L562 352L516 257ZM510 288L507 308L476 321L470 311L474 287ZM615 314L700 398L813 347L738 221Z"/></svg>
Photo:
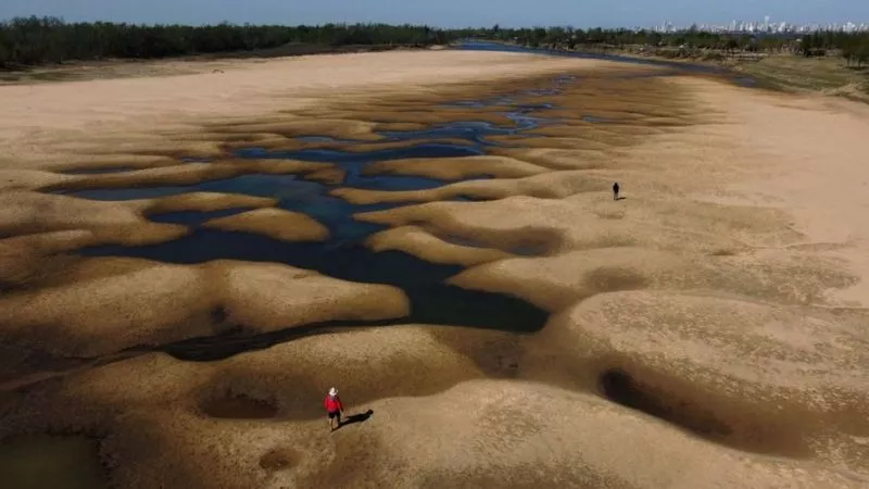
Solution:
<svg viewBox="0 0 869 489"><path fill-rule="evenodd" d="M496 7L495 7L496 5ZM727 23L731 18L869 23L869 0L0 0L0 20L209 24L386 22L441 27L617 27Z"/></svg>

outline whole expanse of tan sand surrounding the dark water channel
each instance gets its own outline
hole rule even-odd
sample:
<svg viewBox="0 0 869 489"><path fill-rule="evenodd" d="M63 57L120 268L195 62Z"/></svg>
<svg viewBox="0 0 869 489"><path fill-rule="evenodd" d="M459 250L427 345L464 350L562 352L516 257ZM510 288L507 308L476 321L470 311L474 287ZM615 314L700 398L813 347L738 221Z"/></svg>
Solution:
<svg viewBox="0 0 869 489"><path fill-rule="evenodd" d="M3 277L11 290L0 298L5 337L70 356L239 327L263 334L402 317L408 303L396 288L285 265L61 253L100 233L158 236L146 220L155 209L250 203L266 208L254 216L284 215L267 209L273 199L113 203L28 189L71 181L43 172L62 163L58 151L77 154L76 165L83 154L119 164L114 151L134 154L136 167L148 166L144 156L166 166L180 150L212 154L225 142L263 140L278 147L314 129L376 147L366 135L378 124L473 115L441 113L445 98L462 95L438 92L433 84L443 79L467 83L462 90L473 99L500 89L496 82L480 88L483 77L513 77L507 89L519 74L568 70L587 75L578 88L539 100L574 120L538 130L543 137L502 138L522 147L476 160L500 178L333 192L349 202L426 201L357 214L391 227L367 244L469 265L450 283L552 312L539 334L412 325L304 338L211 363L146 354L0 399L10 413L29 413L16 429L105 434L102 451L126 486L164 477L203 488L865 487L869 171L861 156L869 114L846 102L690 77L621 77L608 63L469 52L3 87L0 93L15 96L0 99L10 114L0 118L10 148L3 164L27 171L9 174L17 190L0 195L4 260L17 266ZM28 103L39 111L28 112ZM110 125L117 133L103 135ZM417 175L464 177L476 171L470 161L427 162ZM138 175L152 183L214 176L203 165ZM396 160L373 172L415 168ZM624 200L613 199L613 181ZM441 201L462 195L493 201ZM275 230L257 224L264 229ZM35 251L17 263L25 249ZM318 402L331 385L354 411L373 410L370 419L327 434Z"/></svg>

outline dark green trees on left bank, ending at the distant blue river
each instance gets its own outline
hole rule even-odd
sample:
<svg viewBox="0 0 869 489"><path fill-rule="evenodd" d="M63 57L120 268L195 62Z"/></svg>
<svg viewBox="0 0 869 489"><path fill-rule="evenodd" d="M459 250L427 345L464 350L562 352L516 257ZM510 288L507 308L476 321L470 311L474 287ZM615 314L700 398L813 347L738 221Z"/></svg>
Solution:
<svg viewBox="0 0 869 489"><path fill-rule="evenodd" d="M290 43L318 46L428 46L449 42L428 26L355 24L136 25L65 23L55 17L20 17L0 23L0 67L100 59L154 59L273 49Z"/></svg>

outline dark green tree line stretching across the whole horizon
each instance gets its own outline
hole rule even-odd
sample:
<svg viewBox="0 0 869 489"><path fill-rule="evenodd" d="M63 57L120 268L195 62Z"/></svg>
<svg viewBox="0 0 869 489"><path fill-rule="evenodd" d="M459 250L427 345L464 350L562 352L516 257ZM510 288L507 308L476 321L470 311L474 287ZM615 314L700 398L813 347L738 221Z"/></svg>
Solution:
<svg viewBox="0 0 869 489"><path fill-rule="evenodd" d="M21 17L0 23L0 68L101 59L154 59L229 53L290 45L416 46L464 38L558 50L648 47L662 55L697 52L791 52L841 55L848 64L869 63L869 33L818 32L808 35L718 34L690 28L677 33L633 29L529 27L439 29L425 25L137 25L65 23L55 17Z"/></svg>

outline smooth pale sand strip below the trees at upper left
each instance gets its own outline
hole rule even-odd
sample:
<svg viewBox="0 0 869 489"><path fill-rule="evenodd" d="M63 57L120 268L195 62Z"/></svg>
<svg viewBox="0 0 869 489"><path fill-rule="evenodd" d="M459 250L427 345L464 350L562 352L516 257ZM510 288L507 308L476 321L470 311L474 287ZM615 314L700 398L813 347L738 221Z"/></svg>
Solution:
<svg viewBox="0 0 869 489"><path fill-rule="evenodd" d="M452 61L443 64L443 60ZM461 86L480 79L481 66L486 66L483 77L489 80L582 67L618 68L618 63L593 60L437 50L219 63L225 67L222 73L214 73L213 65L209 65L205 72L171 77L0 86L0 111L7 114L0 120L0 142L8 147L0 155L0 168L33 170L52 165L61 162L64 153L75 152L77 146L101 146L86 143L87 140L103 139L104 145L111 145L123 139L124 133L137 135L126 143L135 153L136 139L141 139L140 146L149 145L150 140L165 140L172 127L189 130L191 126L225 117L281 118L274 100L287 98L282 96L287 86L293 87L293 93L281 108L285 111L316 103L318 98L328 97L335 90L341 90L343 98L364 99L408 84L421 91L429 86ZM327 74L326 70L333 66L336 75ZM33 109L46 103L58 110L49 114ZM182 111L177 109L179 104L185 106ZM95 133L99 136L95 137ZM197 148L196 141L174 141L174 145L179 149L191 148L193 152ZM58 149L51 149L52 146Z"/></svg>

